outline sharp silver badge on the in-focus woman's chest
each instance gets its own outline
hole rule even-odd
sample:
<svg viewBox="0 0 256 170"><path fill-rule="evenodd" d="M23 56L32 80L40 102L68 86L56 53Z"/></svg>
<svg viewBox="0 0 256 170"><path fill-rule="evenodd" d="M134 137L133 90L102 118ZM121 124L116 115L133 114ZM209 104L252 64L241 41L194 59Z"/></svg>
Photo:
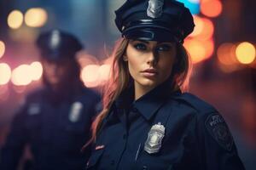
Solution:
<svg viewBox="0 0 256 170"><path fill-rule="evenodd" d="M151 127L144 146L144 150L147 151L148 154L154 154L160 150L162 139L165 137L165 129L166 127L161 125L160 122Z"/></svg>

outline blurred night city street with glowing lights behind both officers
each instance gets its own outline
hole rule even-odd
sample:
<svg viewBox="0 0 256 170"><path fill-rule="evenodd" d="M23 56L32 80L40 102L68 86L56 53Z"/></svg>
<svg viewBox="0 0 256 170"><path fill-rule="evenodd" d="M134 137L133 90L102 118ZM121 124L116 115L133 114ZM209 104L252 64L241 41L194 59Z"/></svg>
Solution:
<svg viewBox="0 0 256 170"><path fill-rule="evenodd" d="M108 80L113 45L120 37L116 8L125 0L0 0L0 147L26 94L41 86L34 41L60 28L84 43L78 54L84 86ZM256 167L256 1L179 0L194 14L184 42L193 62L189 92L214 105L230 126L241 160Z"/></svg>

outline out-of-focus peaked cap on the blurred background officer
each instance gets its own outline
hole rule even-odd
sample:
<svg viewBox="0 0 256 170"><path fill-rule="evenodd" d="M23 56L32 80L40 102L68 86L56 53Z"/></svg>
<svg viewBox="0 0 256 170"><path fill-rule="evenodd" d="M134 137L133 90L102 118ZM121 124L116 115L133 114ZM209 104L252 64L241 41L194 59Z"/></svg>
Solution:
<svg viewBox="0 0 256 170"><path fill-rule="evenodd" d="M41 33L36 43L41 56L50 60L74 58L75 54L83 48L77 37L60 30Z"/></svg>

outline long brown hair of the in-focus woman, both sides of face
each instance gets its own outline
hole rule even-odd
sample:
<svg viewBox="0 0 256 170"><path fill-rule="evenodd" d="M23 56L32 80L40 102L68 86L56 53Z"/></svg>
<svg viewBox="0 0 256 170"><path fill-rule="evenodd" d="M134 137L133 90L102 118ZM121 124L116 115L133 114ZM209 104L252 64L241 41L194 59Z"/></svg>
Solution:
<svg viewBox="0 0 256 170"><path fill-rule="evenodd" d="M111 78L104 90L103 110L92 123L92 139L90 142L96 141L96 135L102 125L102 120L108 115L113 101L117 99L119 94L128 88L129 83L132 81L127 62L125 62L123 59L128 43L128 39L120 39L115 46L116 48L113 50ZM172 82L174 88L172 90L179 88L182 92L184 92L187 91L189 87L191 65L189 55L187 54L185 48L183 48L183 45L180 43L177 43L176 59L177 61L172 69Z"/></svg>

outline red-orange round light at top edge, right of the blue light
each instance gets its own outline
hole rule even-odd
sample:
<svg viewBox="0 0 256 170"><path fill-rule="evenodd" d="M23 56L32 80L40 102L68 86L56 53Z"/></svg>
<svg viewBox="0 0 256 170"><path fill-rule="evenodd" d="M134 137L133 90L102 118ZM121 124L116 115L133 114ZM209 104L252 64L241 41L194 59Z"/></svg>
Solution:
<svg viewBox="0 0 256 170"><path fill-rule="evenodd" d="M222 12L222 3L219 0L202 0L201 13L207 17L217 17Z"/></svg>

